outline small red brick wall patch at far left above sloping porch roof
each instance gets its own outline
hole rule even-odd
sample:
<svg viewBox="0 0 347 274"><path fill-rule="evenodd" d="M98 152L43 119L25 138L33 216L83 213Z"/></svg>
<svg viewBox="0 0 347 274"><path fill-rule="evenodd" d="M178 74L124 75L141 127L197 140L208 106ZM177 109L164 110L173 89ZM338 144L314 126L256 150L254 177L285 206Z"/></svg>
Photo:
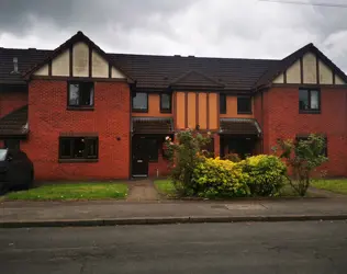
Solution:
<svg viewBox="0 0 347 274"><path fill-rule="evenodd" d="M3 91L0 92L0 118L27 104L27 92Z"/></svg>

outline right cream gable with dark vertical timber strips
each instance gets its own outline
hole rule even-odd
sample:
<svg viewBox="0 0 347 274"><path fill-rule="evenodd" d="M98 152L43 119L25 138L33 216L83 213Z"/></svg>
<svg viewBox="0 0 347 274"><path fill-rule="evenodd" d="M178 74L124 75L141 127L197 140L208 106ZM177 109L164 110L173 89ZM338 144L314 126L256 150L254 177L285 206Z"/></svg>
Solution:
<svg viewBox="0 0 347 274"><path fill-rule="evenodd" d="M311 50L276 77L272 83L346 84L339 75L336 69L332 68L331 64Z"/></svg>

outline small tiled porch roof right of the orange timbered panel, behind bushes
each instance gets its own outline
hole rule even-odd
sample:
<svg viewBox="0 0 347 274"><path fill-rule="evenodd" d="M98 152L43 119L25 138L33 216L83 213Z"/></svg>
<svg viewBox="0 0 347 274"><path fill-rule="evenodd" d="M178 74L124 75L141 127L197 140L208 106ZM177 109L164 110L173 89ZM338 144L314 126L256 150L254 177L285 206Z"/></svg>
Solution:
<svg viewBox="0 0 347 274"><path fill-rule="evenodd" d="M221 118L221 134L260 135L259 124L254 118Z"/></svg>

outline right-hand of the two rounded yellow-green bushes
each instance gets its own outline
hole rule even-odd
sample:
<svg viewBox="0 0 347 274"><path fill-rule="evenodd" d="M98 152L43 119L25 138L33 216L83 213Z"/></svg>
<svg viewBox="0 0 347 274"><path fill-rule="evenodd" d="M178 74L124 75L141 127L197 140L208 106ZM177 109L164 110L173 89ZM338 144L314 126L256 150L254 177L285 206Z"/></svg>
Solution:
<svg viewBox="0 0 347 274"><path fill-rule="evenodd" d="M253 196L276 196L286 181L286 164L276 156L259 155L239 162Z"/></svg>

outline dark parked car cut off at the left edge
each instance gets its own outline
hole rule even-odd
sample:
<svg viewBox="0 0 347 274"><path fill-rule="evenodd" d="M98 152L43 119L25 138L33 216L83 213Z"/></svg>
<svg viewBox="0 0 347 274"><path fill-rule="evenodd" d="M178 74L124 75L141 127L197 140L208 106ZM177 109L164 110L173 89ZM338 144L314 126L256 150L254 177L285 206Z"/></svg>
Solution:
<svg viewBox="0 0 347 274"><path fill-rule="evenodd" d="M34 165L25 152L18 149L0 149L0 194L10 190L32 186Z"/></svg>

